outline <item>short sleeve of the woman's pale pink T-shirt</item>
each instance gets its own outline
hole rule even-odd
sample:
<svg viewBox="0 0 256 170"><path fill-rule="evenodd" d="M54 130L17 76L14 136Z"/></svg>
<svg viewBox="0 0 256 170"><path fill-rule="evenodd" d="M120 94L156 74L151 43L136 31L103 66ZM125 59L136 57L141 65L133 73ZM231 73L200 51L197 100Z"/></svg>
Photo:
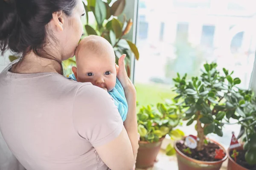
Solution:
<svg viewBox="0 0 256 170"><path fill-rule="evenodd" d="M107 144L122 131L123 122L111 96L93 85L81 86L74 98L73 124L93 147Z"/></svg>

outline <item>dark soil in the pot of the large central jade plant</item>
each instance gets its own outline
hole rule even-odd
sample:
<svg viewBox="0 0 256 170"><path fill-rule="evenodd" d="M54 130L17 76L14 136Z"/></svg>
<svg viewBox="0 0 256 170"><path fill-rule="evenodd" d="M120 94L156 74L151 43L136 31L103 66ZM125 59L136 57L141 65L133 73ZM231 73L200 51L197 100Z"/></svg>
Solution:
<svg viewBox="0 0 256 170"><path fill-rule="evenodd" d="M199 161L219 161L219 159L215 159L214 157L215 157L215 149L220 149L220 147L213 142L209 142L207 145L204 146L204 150L201 150L201 151L198 151L196 149L190 149L191 154L184 151L186 148L188 148L184 144L184 142L183 143L178 142L176 146L180 150L180 152L182 152L183 154L185 154L190 158L193 158Z"/></svg>

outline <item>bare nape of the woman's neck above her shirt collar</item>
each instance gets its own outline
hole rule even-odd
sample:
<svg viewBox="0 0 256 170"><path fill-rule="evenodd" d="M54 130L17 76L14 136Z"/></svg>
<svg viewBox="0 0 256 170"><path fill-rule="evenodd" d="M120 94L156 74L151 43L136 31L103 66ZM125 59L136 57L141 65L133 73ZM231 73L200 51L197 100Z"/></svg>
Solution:
<svg viewBox="0 0 256 170"><path fill-rule="evenodd" d="M61 69L61 65L57 61L38 57L35 53L30 52L12 66L11 72L21 74L40 72L61 73Z"/></svg>

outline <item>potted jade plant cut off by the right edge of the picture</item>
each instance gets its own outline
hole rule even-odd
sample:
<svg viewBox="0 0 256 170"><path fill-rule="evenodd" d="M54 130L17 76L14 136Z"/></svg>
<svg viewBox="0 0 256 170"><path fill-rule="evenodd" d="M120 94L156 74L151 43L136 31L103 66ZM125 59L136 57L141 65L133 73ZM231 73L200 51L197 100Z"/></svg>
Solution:
<svg viewBox="0 0 256 170"><path fill-rule="evenodd" d="M241 125L237 139L243 136L241 146L229 148L228 170L256 170L256 98L251 90L239 90L240 95L230 95L231 117Z"/></svg>

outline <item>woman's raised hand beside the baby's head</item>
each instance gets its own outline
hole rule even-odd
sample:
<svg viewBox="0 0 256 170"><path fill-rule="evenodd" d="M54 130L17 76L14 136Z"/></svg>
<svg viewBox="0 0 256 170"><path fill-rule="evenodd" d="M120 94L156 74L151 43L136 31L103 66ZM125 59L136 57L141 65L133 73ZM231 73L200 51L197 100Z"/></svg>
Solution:
<svg viewBox="0 0 256 170"><path fill-rule="evenodd" d="M119 60L118 60L119 66L116 65L116 75L125 90L130 89L130 90L135 91L135 87L132 84L130 78L128 77L126 69L125 69L125 57L126 57L126 55L123 54L119 58Z"/></svg>

